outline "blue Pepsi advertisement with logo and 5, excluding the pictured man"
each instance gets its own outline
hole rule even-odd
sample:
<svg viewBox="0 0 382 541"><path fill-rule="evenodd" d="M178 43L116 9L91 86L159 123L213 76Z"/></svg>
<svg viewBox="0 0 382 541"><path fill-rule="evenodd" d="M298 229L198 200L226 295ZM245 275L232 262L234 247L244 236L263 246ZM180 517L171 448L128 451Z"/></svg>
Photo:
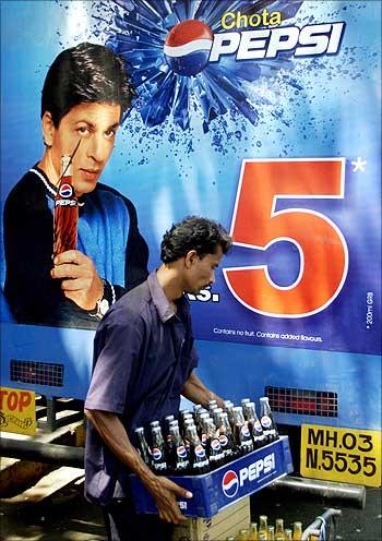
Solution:
<svg viewBox="0 0 382 541"><path fill-rule="evenodd" d="M1 2L2 208L44 152L49 65L106 45L136 98L100 181L136 208L148 269L184 215L234 238L213 287L189 296L203 380L234 400L265 386L333 392L342 406L326 424L379 429L380 19L379 2ZM1 263L3 288L3 245ZM61 392L84 396L93 330L19 327L1 301L7 359L53 351L71 377Z"/></svg>

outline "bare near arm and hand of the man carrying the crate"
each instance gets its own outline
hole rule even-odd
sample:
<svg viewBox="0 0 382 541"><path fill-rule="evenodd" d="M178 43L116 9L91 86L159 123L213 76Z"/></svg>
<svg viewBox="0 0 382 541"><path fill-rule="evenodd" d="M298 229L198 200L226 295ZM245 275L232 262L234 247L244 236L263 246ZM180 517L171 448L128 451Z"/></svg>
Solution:
<svg viewBox="0 0 382 541"><path fill-rule="evenodd" d="M190 498L192 494L151 471L132 446L123 424L115 413L85 409L85 414L118 460L134 472L151 492L158 507L159 518L175 525L183 522L186 517L179 510L176 496Z"/></svg>

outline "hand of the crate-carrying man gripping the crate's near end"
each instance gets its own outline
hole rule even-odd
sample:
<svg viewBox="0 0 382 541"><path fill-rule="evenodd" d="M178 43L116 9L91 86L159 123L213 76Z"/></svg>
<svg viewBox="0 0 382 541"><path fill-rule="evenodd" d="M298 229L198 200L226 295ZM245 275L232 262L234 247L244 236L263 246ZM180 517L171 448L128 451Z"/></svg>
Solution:
<svg viewBox="0 0 382 541"><path fill-rule="evenodd" d="M153 494L158 507L159 518L166 522L179 525L187 518L179 510L176 496L190 500L192 493L174 483L166 477L156 476L154 480L146 484L147 490Z"/></svg>

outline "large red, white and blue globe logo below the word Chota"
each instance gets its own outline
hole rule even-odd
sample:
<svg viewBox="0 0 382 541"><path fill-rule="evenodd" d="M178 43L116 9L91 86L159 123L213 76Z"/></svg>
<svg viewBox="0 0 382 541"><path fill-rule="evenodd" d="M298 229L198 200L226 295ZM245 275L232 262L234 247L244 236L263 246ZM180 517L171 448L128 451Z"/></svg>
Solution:
<svg viewBox="0 0 382 541"><path fill-rule="evenodd" d="M164 52L178 75L196 75L208 64L214 34L202 21L189 19L176 24L167 35Z"/></svg>

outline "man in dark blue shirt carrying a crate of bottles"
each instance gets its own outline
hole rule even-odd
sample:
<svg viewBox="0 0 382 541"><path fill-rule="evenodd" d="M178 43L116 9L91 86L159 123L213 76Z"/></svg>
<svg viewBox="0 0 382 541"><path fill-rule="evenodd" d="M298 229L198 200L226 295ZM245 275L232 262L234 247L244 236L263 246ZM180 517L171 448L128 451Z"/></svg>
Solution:
<svg viewBox="0 0 382 541"><path fill-rule="evenodd" d="M223 399L195 374L189 302L215 281L215 268L231 239L206 218L188 217L162 241L162 266L123 296L98 326L94 372L85 402L88 423L85 494L103 505L108 539L169 539L169 524L180 524L176 496L192 494L155 476L131 443L136 426L177 412L180 395L207 406ZM135 473L154 496L158 515L139 516L130 493ZM167 524L166 524L167 522Z"/></svg>

